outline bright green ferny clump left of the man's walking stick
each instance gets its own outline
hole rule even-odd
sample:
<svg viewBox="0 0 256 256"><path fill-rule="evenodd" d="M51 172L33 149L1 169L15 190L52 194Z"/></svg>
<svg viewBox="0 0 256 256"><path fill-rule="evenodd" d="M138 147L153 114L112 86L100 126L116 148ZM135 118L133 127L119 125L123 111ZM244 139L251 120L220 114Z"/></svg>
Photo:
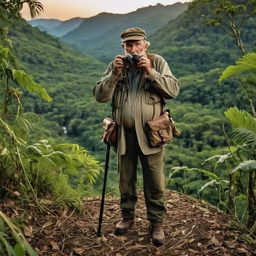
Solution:
<svg viewBox="0 0 256 256"><path fill-rule="evenodd" d="M92 195L91 186L100 170L84 148L78 144L52 147L47 140L41 140L27 146L22 155L36 196L53 193L53 204L65 203L82 210L81 200Z"/></svg>

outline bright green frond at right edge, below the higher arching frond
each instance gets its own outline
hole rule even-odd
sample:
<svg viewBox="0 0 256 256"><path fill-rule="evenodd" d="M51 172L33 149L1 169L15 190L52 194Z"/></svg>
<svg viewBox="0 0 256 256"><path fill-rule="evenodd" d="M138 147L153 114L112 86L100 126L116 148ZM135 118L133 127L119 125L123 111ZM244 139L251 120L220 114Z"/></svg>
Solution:
<svg viewBox="0 0 256 256"><path fill-rule="evenodd" d="M256 120L247 111L241 111L236 106L225 111L225 116L234 128L246 128L256 132Z"/></svg>

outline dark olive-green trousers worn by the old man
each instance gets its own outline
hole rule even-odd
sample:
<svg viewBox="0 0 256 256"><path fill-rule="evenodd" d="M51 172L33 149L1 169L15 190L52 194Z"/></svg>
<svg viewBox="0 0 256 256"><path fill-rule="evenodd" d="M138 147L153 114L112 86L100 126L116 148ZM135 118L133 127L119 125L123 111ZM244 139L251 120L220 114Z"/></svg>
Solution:
<svg viewBox="0 0 256 256"><path fill-rule="evenodd" d="M137 165L139 158L142 166L147 219L151 223L162 223L166 215L164 147L156 154L143 155L135 133L125 131L125 141L125 155L118 156L122 218L135 218L138 201Z"/></svg>

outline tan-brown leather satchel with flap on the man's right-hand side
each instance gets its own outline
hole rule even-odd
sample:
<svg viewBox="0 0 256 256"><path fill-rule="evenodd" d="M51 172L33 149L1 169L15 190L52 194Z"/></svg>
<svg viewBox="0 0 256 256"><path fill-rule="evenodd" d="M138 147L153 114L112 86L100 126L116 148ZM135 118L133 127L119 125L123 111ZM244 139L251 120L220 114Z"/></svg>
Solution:
<svg viewBox="0 0 256 256"><path fill-rule="evenodd" d="M166 114L147 121L146 132L151 146L159 146L173 140L172 127Z"/></svg>

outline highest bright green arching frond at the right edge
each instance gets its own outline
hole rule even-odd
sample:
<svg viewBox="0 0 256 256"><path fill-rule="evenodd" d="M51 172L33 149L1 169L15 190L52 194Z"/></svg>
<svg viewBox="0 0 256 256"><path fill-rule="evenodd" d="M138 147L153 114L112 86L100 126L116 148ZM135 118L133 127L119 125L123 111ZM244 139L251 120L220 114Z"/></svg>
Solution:
<svg viewBox="0 0 256 256"><path fill-rule="evenodd" d="M227 67L220 76L219 83L232 75L252 70L256 70L256 53L248 53L236 61L236 66Z"/></svg>

